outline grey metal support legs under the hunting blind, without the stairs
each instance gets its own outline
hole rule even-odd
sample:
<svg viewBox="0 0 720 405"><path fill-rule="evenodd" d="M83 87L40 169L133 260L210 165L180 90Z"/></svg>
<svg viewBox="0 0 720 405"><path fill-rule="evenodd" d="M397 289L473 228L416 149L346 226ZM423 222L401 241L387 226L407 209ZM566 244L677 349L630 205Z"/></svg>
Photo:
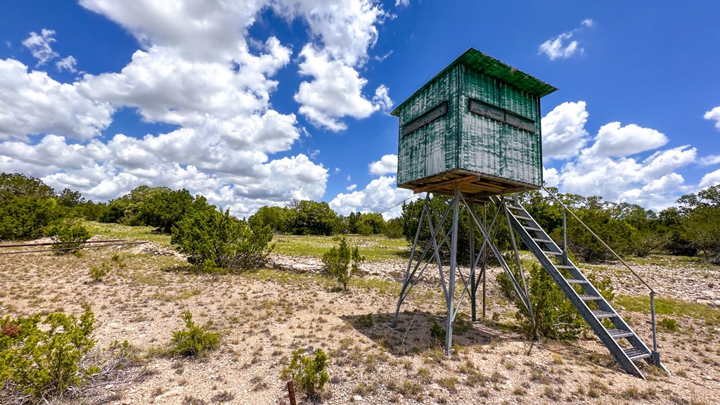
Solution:
<svg viewBox="0 0 720 405"><path fill-rule="evenodd" d="M450 201L449 205L444 210L442 215L439 216L439 218L437 215L438 213L433 213L432 211L430 205L430 198L431 194L428 192L425 197L423 207L420 210L420 217L418 218L418 229L417 231L415 231L415 239L413 240L413 246L410 249L410 259L408 259L408 267L405 270L405 275L402 279L402 287L400 288L400 296L397 299L397 308L395 309L395 316L392 319L392 327L397 326L397 319L400 315L400 306L402 306L402 303L405 301L406 298L408 298L408 295L410 295L410 291L412 291L415 285L417 285L420 277L422 277L425 270L427 270L427 268L430 267L431 264L434 264L438 269L439 280L441 281L441 287L445 300L445 353L447 356L450 356L452 353L453 322L462 304L462 300L467 293L471 303L472 319L473 321L476 320L477 289L480 287L480 285L482 285L482 316L483 318L485 317L487 286L486 270L487 261L490 258L491 253L500 263L500 267L505 270L505 273L510 278L513 289L516 291L518 296L521 297L523 306L525 306L526 310L531 313L531 319L534 319L534 316L532 316L533 308L530 303L527 283L525 281L525 275L522 270L517 246L513 244L513 248L515 249L515 259L518 262L518 270L521 279L519 281L513 271L510 270L508 263L505 262L503 254L500 252L500 249L498 249L498 246L494 242L495 236L498 232L500 218L504 216L505 219L508 221L509 226L510 219L507 213L505 213L505 215L501 215L505 211L504 205L500 204L496 207L495 213L492 216L492 221L490 221L490 226L487 226L487 218L485 216L487 207L485 205L483 206L483 215L481 222L477 218L477 215L474 213L474 210L472 209L473 205L467 202L464 195L460 191L459 186L455 187L452 200ZM462 215L464 214L462 213L463 210L467 211L470 223L469 249L471 263L467 277L465 277L461 267L457 262L458 229L460 218L462 218ZM445 231L445 226L447 223L449 223L450 228L448 231ZM418 249L420 247L418 245L420 242L421 230L426 224L430 231L429 242L422 249ZM480 234L482 235L482 245L477 252L474 243L476 230L480 231ZM443 262L443 260L441 259L441 246L447 246L449 248L449 263ZM420 250L422 250L422 252L420 252ZM418 254L418 252L420 252L420 254ZM479 264L480 266L478 266ZM477 274L478 267L480 267L481 269L480 274ZM462 281L462 289L459 290L459 294L456 288L456 279L458 277Z"/></svg>

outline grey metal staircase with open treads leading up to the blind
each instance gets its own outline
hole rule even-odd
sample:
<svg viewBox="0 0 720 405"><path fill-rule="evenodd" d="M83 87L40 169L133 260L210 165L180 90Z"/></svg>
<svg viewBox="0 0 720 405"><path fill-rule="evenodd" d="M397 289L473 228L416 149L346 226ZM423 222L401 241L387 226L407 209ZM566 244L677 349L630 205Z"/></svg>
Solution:
<svg viewBox="0 0 720 405"><path fill-rule="evenodd" d="M513 230L590 324L615 360L627 373L645 378L635 361L643 359L654 364L649 348L518 201L503 197L499 202L505 205ZM595 305L589 306L590 303ZM612 326L603 325L605 320ZM658 366L662 368L662 365Z"/></svg>

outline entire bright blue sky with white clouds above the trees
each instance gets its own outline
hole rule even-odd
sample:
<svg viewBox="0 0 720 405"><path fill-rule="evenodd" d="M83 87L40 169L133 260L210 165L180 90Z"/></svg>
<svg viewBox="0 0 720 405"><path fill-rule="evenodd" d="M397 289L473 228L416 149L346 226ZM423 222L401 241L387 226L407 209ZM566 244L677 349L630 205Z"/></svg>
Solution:
<svg viewBox="0 0 720 405"><path fill-rule="evenodd" d="M384 212L389 115L467 48L559 91L544 177L661 210L720 182L715 1L4 1L0 171L104 201L186 188L238 216ZM384 213L397 215L399 208Z"/></svg>

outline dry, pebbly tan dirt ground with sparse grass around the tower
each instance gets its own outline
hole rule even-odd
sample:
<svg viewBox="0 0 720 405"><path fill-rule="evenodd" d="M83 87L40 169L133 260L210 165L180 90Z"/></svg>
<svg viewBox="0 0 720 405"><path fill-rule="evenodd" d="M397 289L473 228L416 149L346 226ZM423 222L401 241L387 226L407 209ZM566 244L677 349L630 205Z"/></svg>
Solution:
<svg viewBox="0 0 720 405"><path fill-rule="evenodd" d="M397 281L407 265L402 260L365 263L363 275L343 293L332 280L312 274L317 261L275 259L284 270L204 275L187 272L181 257L154 244L89 249L82 257L0 256L0 316L79 314L87 303L97 319L96 347L127 340L138 348L144 375L65 400L71 404L288 404L280 374L299 347L328 353L325 404L720 402L720 326L704 319L676 317L679 331L660 329L662 360L672 375L645 366L648 379L642 380L623 373L594 337L540 342L526 355L528 342L513 327L513 306L489 282L486 320L456 334L454 355L447 358L429 333L433 321L444 319L432 277L413 290L391 329ZM89 268L102 262L109 275L92 282ZM618 294L647 295L619 267L593 270L608 273ZM638 271L660 296L720 306L718 269L648 264ZM158 355L172 331L184 327L180 314L187 310L198 324L212 321L212 329L222 332L220 350L201 359ZM462 312L469 313L468 301ZM372 326L361 326L358 317L368 313ZM621 313L652 344L649 316Z"/></svg>

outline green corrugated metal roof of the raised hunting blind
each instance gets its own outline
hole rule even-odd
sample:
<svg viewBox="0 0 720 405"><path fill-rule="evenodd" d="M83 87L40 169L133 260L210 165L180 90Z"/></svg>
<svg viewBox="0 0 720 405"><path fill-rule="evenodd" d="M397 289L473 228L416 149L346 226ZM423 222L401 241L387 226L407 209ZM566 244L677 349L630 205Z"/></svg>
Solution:
<svg viewBox="0 0 720 405"><path fill-rule="evenodd" d="M436 77L444 74L445 71L458 63L463 63L470 68L487 74L487 76L492 76L495 79L502 80L505 83L510 84L511 86L515 86L523 92L527 92L538 97L544 97L557 90L557 87L547 84L539 79L536 79L533 76L530 76L529 74L526 74L522 71L518 71L518 69L513 68L513 66L500 62L498 61L498 59L492 58L492 56L480 52L480 50L469 48L467 51L465 51L465 53L460 55L459 58L455 59L455 61L453 61L446 68L444 68L440 73L436 74L433 79L428 81L428 83L420 87L417 92L413 93L413 95L408 97L408 99L400 103L398 107L395 107L395 110L392 110L390 114L397 117L397 110L400 108L400 105L405 104L406 102L408 102L408 100L415 97L415 94L422 92L428 86L428 84L430 84L434 79L436 79Z"/></svg>

